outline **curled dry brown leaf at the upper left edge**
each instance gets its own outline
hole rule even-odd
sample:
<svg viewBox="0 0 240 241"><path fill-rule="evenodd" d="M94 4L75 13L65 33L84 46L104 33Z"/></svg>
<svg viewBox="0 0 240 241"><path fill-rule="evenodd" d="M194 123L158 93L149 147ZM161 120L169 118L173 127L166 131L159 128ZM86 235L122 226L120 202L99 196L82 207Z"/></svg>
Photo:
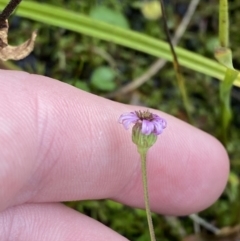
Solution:
<svg viewBox="0 0 240 241"><path fill-rule="evenodd" d="M25 58L34 48L37 33L33 32L31 38L20 45L11 46L8 45L8 28L8 21L6 20L6 27L0 29L0 60L19 60Z"/></svg>

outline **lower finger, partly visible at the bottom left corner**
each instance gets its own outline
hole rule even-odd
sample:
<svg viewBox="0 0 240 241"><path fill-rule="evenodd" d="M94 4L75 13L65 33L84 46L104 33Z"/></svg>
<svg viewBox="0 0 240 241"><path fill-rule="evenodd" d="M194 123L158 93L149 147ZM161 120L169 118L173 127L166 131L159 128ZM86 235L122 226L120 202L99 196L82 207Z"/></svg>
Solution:
<svg viewBox="0 0 240 241"><path fill-rule="evenodd" d="M0 213L0 240L127 241L103 224L61 204L24 204Z"/></svg>

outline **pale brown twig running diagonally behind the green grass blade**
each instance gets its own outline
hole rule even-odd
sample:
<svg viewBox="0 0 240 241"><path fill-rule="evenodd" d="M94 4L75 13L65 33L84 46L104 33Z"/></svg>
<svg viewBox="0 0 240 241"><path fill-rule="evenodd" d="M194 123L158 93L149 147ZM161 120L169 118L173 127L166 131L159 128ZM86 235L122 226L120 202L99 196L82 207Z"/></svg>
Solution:
<svg viewBox="0 0 240 241"><path fill-rule="evenodd" d="M195 10L196 10L196 8L197 8L197 5L199 4L199 1L200 0L192 0L190 2L188 10L187 10L183 20L181 21L179 27L177 28L174 37L173 37L172 42L173 42L174 45L177 45L177 43L181 39L182 35L186 31L186 28L187 28L187 26L188 26L188 24L189 24L189 22L190 22L190 20L193 16ZM119 95L122 95L122 94L127 94L127 93L135 90L136 88L140 87L142 84L147 82L160 69L162 69L165 66L166 63L167 63L167 61L165 59L158 59L148 68L148 70L143 75L134 79L129 84L122 87L121 89L107 94L106 97L114 98L116 96L119 96Z"/></svg>

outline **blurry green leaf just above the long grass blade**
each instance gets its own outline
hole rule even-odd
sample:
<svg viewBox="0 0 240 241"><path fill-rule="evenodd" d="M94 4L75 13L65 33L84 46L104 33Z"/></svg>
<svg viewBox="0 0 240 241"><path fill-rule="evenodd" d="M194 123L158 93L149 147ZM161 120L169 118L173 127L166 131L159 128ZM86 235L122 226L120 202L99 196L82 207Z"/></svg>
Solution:
<svg viewBox="0 0 240 241"><path fill-rule="evenodd" d="M105 6L97 6L91 9L90 17L121 28L129 29L128 21L122 13Z"/></svg>

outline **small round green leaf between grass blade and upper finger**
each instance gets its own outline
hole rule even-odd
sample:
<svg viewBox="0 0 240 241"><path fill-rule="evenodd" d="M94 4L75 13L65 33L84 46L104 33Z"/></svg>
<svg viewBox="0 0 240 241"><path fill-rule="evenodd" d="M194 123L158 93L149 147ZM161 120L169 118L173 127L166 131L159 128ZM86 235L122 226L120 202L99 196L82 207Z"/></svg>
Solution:
<svg viewBox="0 0 240 241"><path fill-rule="evenodd" d="M110 67L100 66L96 68L91 76L91 84L103 91L112 91L116 88L114 79L116 73Z"/></svg>

